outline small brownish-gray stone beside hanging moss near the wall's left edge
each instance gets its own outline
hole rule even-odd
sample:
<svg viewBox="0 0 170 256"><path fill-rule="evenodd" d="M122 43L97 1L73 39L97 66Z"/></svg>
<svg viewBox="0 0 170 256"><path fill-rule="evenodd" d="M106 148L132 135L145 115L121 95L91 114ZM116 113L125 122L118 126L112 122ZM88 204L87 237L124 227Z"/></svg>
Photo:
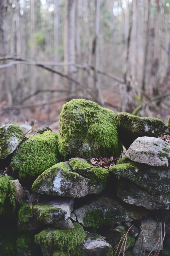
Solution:
<svg viewBox="0 0 170 256"><path fill-rule="evenodd" d="M19 204L22 204L23 201L26 199L27 197L27 193L25 192L25 190L22 188L20 182L18 179L15 180L11 180L10 181L10 185L14 186L15 188L15 194L14 194L14 199L16 202L18 202Z"/></svg>

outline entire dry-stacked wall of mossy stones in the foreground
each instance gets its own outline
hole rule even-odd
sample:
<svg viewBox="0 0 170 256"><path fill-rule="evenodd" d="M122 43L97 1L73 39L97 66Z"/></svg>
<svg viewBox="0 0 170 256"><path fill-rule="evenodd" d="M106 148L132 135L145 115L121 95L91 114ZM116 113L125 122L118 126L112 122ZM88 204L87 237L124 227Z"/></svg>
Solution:
<svg viewBox="0 0 170 256"><path fill-rule="evenodd" d="M73 100L59 128L24 138L17 125L0 127L0 169L10 165L0 174L0 255L170 255L163 121ZM121 142L127 151L116 165L91 164L119 156Z"/></svg>

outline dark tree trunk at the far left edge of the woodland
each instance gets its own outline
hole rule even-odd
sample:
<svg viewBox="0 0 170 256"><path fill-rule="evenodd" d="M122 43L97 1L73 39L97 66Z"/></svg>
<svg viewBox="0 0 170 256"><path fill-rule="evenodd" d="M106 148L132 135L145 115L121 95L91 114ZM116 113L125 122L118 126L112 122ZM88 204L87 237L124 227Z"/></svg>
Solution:
<svg viewBox="0 0 170 256"><path fill-rule="evenodd" d="M0 53L8 53L8 36L7 36L7 0L0 0ZM3 64L7 62L4 61ZM9 87L8 69L0 70L0 90L1 100L7 100L12 105L12 95Z"/></svg>

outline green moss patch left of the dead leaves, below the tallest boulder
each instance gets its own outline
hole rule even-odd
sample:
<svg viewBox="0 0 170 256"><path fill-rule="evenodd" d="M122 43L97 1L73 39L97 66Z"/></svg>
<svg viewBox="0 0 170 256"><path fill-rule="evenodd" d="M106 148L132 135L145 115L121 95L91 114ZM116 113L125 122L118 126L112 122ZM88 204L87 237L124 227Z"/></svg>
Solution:
<svg viewBox="0 0 170 256"><path fill-rule="evenodd" d="M109 170L95 166L93 168L88 168L92 167L93 165L75 158L71 159L69 164L74 172L77 172L78 174L85 177L87 173L91 179L91 182L94 184L97 182L106 182L109 177Z"/></svg>

